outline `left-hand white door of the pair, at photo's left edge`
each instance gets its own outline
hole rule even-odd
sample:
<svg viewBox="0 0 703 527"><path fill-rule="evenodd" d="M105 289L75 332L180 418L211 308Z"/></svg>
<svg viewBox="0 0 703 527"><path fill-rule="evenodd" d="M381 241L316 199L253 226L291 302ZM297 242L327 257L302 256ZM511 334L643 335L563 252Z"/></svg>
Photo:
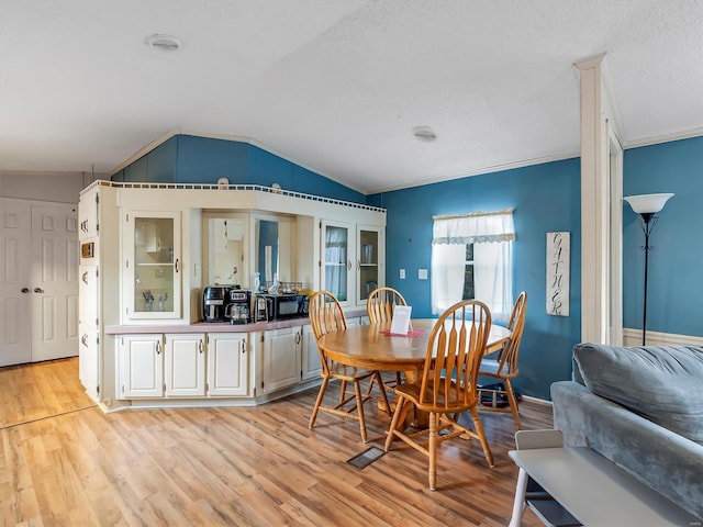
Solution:
<svg viewBox="0 0 703 527"><path fill-rule="evenodd" d="M0 199L0 367L32 361L32 214L22 200Z"/></svg>

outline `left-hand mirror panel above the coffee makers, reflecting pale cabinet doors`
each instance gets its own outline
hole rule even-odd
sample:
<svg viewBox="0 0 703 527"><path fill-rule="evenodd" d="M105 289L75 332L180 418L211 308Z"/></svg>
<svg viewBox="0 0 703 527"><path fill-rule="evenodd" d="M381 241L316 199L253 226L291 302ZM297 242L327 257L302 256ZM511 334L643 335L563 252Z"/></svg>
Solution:
<svg viewBox="0 0 703 527"><path fill-rule="evenodd" d="M223 214L221 217L208 218L207 227L209 282L215 285L247 287L245 218Z"/></svg>

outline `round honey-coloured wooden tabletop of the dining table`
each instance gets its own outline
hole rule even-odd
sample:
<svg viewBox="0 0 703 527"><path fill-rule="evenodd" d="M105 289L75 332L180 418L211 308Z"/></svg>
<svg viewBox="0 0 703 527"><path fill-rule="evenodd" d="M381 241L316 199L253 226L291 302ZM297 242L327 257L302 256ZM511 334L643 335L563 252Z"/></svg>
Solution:
<svg viewBox="0 0 703 527"><path fill-rule="evenodd" d="M420 336L394 336L381 332L390 324L354 326L346 332L324 335L319 346L332 360L344 365L382 371L420 371L425 365L429 333L437 321L431 318L413 319L412 327ZM506 327L492 324L486 346L486 354L499 350L510 338Z"/></svg>

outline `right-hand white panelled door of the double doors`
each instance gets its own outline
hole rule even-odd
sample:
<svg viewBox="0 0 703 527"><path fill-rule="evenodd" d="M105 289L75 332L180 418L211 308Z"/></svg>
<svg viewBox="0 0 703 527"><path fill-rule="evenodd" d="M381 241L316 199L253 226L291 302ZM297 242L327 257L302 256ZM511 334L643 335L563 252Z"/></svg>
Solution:
<svg viewBox="0 0 703 527"><path fill-rule="evenodd" d="M32 206L32 361L78 355L78 213Z"/></svg>

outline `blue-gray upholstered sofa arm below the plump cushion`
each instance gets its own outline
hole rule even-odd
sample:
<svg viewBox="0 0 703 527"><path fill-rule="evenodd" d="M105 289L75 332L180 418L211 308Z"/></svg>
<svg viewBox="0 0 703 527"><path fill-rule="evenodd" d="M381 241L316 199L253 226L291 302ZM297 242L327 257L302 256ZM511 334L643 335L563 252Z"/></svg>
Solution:
<svg viewBox="0 0 703 527"><path fill-rule="evenodd" d="M589 447L703 518L703 446L573 381L551 384L554 427L567 446Z"/></svg>

